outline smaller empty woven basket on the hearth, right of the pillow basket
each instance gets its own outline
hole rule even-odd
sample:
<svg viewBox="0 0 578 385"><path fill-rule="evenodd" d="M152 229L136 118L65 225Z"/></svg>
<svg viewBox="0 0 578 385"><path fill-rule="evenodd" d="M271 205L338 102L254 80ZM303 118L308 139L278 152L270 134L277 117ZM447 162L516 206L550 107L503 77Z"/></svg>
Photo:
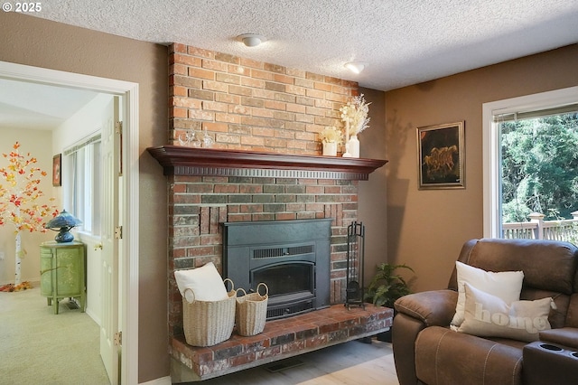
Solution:
<svg viewBox="0 0 578 385"><path fill-rule="evenodd" d="M259 294L259 286L265 286L265 296ZM235 312L235 322L237 332L243 336L256 335L265 329L267 317L267 302L269 298L269 287L263 282L256 286L256 293L249 293L243 288L244 296L237 298L237 310Z"/></svg>

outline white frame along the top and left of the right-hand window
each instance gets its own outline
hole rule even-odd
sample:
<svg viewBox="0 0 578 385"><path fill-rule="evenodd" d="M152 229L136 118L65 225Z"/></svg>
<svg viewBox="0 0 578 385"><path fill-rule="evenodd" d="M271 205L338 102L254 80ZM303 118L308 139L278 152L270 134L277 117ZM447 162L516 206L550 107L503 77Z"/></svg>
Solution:
<svg viewBox="0 0 578 385"><path fill-rule="evenodd" d="M578 101L578 87L556 89L512 99L483 103L482 105L482 151L483 151L483 203L485 238L501 238L500 167L501 140L494 116L514 112L527 112L555 108Z"/></svg>

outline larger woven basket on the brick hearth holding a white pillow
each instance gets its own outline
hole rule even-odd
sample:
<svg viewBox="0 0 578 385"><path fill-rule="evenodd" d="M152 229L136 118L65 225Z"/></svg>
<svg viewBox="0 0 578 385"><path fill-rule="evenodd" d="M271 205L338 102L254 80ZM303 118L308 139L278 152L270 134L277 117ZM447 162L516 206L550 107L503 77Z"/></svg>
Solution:
<svg viewBox="0 0 578 385"><path fill-rule="evenodd" d="M233 281L228 298L221 301L196 301L191 288L186 288L193 295L192 302L182 297L182 328L184 337L192 346L212 346L227 341L233 333L235 325L235 307L237 291Z"/></svg>

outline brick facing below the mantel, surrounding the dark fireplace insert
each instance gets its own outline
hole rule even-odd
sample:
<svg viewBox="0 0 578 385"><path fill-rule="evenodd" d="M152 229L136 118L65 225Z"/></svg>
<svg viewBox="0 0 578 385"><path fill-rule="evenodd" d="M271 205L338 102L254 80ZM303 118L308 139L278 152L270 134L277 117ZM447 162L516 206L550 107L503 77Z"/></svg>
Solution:
<svg viewBox="0 0 578 385"><path fill-rule="evenodd" d="M222 230L228 221L334 218L331 223L331 303L345 293L347 226L357 220L357 181L172 176L169 216L169 324L181 333L182 300L174 270L212 261L222 271Z"/></svg>

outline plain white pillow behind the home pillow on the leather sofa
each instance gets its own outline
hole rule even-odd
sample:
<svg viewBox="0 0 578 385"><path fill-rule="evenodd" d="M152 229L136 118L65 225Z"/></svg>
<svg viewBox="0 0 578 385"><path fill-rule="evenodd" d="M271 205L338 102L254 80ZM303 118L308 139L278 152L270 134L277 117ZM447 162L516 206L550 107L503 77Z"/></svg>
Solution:
<svg viewBox="0 0 578 385"><path fill-rule="evenodd" d="M460 261L455 262L458 272L458 304L455 306L452 325L460 326L463 322L463 305L465 303L464 283L503 299L508 305L520 299L523 271L500 271L494 273L481 268L474 268Z"/></svg>

